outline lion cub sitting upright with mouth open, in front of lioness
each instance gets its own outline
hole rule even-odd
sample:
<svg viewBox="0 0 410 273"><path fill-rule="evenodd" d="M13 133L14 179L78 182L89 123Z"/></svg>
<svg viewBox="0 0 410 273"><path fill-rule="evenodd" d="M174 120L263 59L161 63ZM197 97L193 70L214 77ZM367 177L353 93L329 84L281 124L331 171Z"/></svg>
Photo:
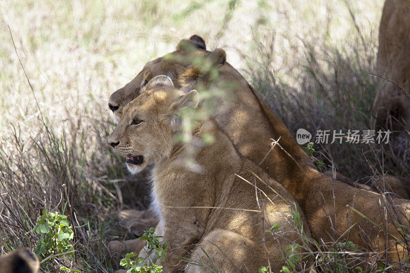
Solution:
<svg viewBox="0 0 410 273"><path fill-rule="evenodd" d="M277 272L284 265L284 249L302 244L300 232L310 236L306 222L296 224L291 215L297 208L303 219L302 211L279 183L239 155L214 120L197 122L190 141L176 140L179 113L197 104L196 90L185 94L170 78L158 76L124 108L109 137L131 173L153 166L157 232L168 243L165 261L157 263L164 272L208 271L187 265L180 258L185 257L224 272L257 272L269 256ZM211 144L201 141L205 135ZM189 165L192 154L195 164Z"/></svg>

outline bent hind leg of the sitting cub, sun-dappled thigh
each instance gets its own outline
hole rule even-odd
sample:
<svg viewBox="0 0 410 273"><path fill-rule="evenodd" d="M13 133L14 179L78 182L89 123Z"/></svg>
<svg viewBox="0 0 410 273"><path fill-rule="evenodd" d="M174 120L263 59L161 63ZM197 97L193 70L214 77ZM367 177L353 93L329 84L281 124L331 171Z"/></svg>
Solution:
<svg viewBox="0 0 410 273"><path fill-rule="evenodd" d="M279 249L270 248L270 262L273 272L279 272L283 261ZM267 255L262 242L256 243L229 230L217 229L204 237L194 248L185 272L257 272L261 266L268 266Z"/></svg>

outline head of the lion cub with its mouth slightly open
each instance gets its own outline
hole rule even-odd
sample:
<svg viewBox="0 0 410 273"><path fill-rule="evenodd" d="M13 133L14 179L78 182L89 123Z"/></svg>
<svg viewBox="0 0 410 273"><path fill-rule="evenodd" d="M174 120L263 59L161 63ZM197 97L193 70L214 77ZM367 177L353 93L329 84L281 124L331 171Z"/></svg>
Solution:
<svg viewBox="0 0 410 273"><path fill-rule="evenodd" d="M180 111L197 104L196 90L182 92L169 77L157 76L124 107L108 141L117 154L127 158L128 170L136 174L170 156L173 137L180 129Z"/></svg>

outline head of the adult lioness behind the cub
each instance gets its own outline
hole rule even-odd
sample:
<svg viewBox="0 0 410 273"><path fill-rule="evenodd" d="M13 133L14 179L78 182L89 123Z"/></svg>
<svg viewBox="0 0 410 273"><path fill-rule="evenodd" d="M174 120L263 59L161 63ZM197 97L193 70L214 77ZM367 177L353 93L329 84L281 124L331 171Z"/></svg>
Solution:
<svg viewBox="0 0 410 273"><path fill-rule="evenodd" d="M118 123L122 108L144 92L155 76L166 75L175 87L186 87L189 91L198 82L207 81L210 67L220 68L225 61L226 53L222 49L207 51L205 42L197 35L181 40L174 52L148 62L131 82L110 96L108 107L114 113L115 122Z"/></svg>

